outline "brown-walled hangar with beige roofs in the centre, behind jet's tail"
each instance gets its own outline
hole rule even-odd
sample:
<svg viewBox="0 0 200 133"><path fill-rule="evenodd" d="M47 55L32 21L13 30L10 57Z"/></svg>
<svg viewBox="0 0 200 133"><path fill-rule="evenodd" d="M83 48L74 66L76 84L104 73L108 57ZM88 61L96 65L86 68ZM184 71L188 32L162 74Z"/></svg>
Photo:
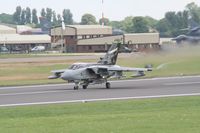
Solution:
<svg viewBox="0 0 200 133"><path fill-rule="evenodd" d="M104 52L116 40L137 51L158 50L159 33L113 34L112 27L101 25L66 25L50 31L54 47L62 44L64 52Z"/></svg>

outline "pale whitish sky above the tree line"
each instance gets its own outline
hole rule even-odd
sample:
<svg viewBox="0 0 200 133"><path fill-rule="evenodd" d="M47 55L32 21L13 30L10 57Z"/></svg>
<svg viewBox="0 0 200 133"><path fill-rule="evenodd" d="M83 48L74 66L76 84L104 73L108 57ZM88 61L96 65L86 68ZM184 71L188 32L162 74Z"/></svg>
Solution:
<svg viewBox="0 0 200 133"><path fill-rule="evenodd" d="M42 8L52 8L56 13L70 9L73 19L81 21L85 13L93 14L97 20L102 16L110 20L123 20L127 16L151 16L161 19L168 11L182 11L188 3L195 2L200 6L200 0L4 0L0 4L0 13L13 14L16 6L36 8L38 16Z"/></svg>

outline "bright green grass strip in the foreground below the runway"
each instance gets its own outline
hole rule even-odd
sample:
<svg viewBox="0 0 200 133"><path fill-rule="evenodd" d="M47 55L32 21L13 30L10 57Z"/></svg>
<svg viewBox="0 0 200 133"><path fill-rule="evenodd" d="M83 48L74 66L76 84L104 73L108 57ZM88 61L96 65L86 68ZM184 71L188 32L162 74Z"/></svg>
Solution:
<svg viewBox="0 0 200 133"><path fill-rule="evenodd" d="M199 133L200 97L0 108L2 133Z"/></svg>

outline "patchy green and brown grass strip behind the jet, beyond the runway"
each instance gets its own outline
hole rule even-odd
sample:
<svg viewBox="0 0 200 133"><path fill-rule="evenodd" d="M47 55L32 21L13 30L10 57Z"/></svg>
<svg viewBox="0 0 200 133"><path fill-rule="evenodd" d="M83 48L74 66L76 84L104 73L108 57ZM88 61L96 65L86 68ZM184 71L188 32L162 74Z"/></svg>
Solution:
<svg viewBox="0 0 200 133"><path fill-rule="evenodd" d="M156 54L130 54L119 58L118 65L144 67L152 64L153 72L146 77L200 75L200 48L181 49ZM0 64L0 86L64 83L61 79L48 80L51 70L65 69L74 62L96 62L96 60L48 60L44 62L22 62ZM127 73L131 78L132 73Z"/></svg>

